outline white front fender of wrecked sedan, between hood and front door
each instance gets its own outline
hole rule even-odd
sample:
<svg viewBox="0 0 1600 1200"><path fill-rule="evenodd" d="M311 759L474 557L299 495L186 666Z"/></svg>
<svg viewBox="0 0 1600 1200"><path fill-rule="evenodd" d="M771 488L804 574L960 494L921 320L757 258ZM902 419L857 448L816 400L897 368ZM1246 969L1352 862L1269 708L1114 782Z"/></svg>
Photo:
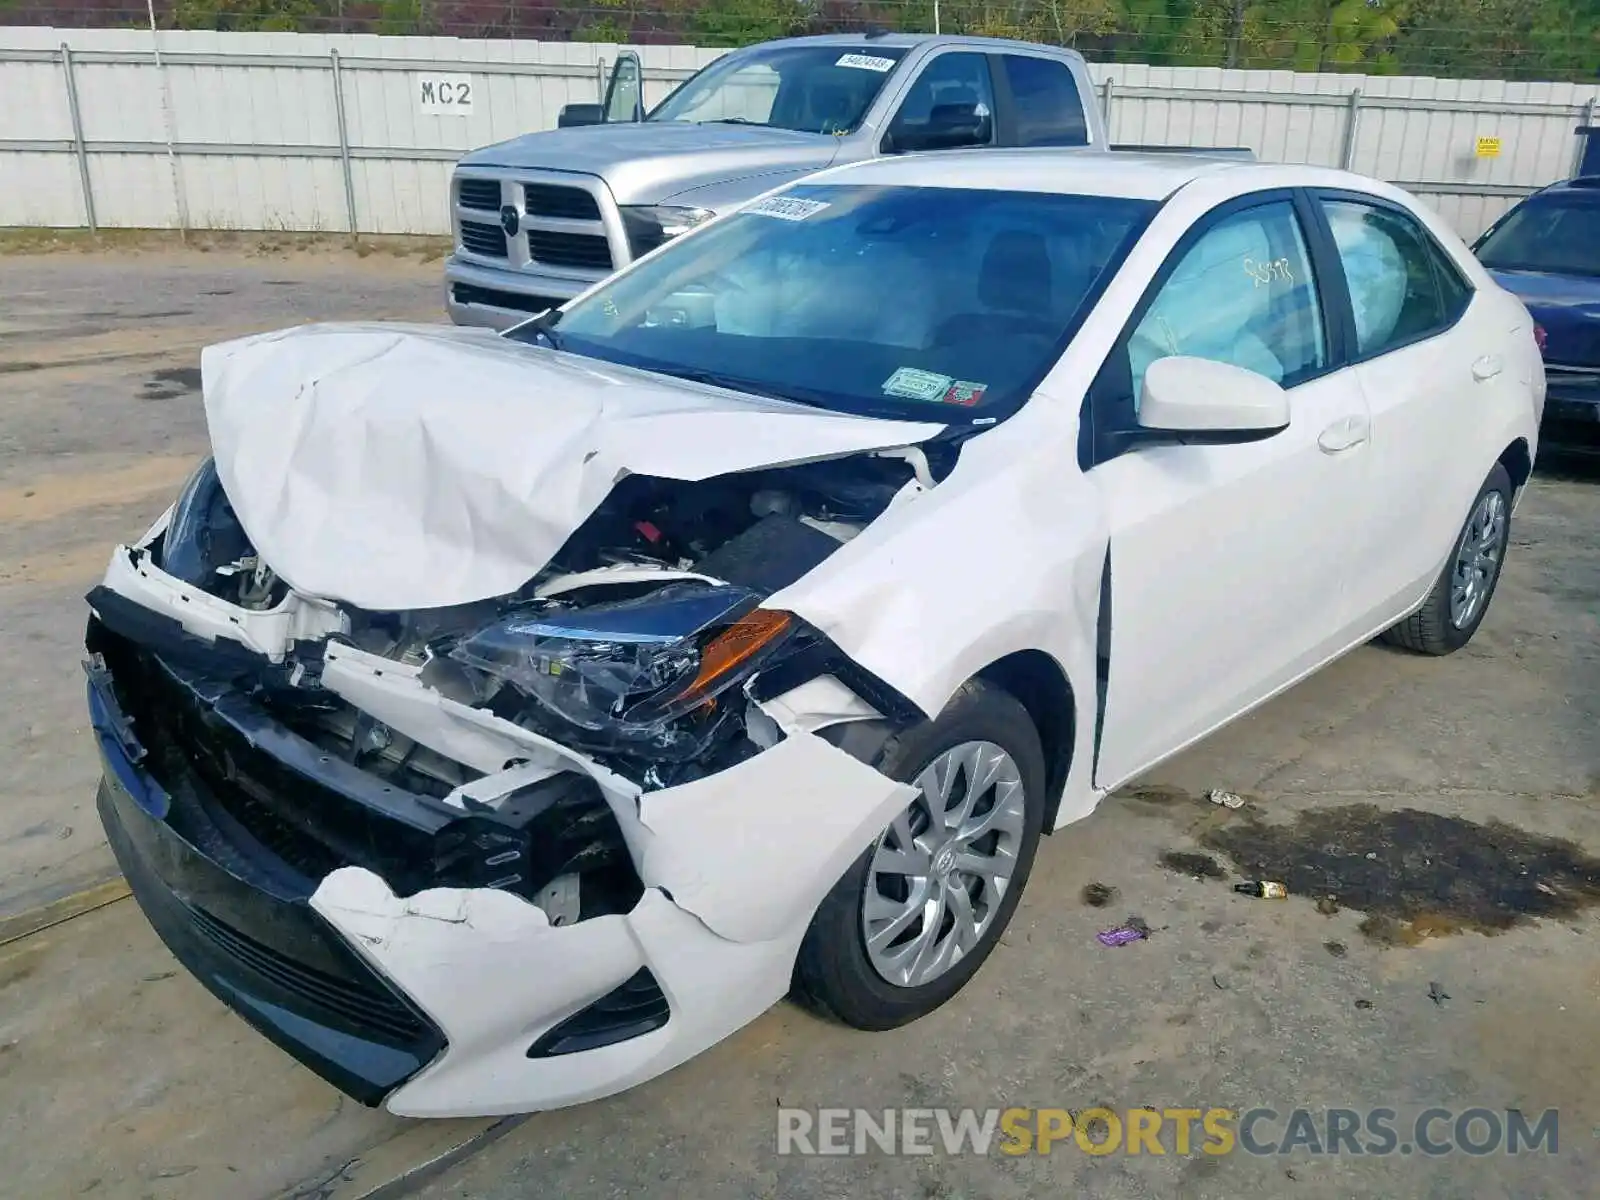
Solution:
<svg viewBox="0 0 1600 1200"><path fill-rule="evenodd" d="M1099 800L1096 650L1110 526L1093 482L1038 445L1077 445L1072 406L1032 403L968 440L936 488L890 507L766 605L821 629L930 720L986 667L1022 651L1048 656L1078 715L1056 813L1066 824Z"/></svg>

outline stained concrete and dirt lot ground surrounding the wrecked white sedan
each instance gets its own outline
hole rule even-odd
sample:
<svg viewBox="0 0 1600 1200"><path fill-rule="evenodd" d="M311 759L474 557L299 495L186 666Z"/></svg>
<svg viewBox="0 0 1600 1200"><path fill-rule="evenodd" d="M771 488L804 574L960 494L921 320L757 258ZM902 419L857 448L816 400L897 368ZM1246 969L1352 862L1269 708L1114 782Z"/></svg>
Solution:
<svg viewBox="0 0 1600 1200"><path fill-rule="evenodd" d="M82 595L203 451L198 347L437 320L437 262L334 251L0 259L0 917L112 870ZM1363 648L1048 838L1002 947L934 1016L862 1035L779 1005L626 1096L530 1118L426 1194L1587 1194L1600 472L1541 469L1514 538L1464 653ZM1245 806L1208 803L1211 787ZM1258 874L1294 894L1230 888ZM1094 939L1128 917L1150 936ZM414 1128L251 1034L126 901L0 946L0 1162L24 1163L0 1195L267 1195ZM1258 1144L1283 1141L1298 1107L1323 1134L1330 1107L1387 1107L1400 1138L1387 1155L1208 1155L1197 1131L1179 1154L1166 1122L1162 1155L805 1157L776 1152L779 1106L1272 1109ZM1427 1107L1558 1109L1558 1152L1403 1154Z"/></svg>

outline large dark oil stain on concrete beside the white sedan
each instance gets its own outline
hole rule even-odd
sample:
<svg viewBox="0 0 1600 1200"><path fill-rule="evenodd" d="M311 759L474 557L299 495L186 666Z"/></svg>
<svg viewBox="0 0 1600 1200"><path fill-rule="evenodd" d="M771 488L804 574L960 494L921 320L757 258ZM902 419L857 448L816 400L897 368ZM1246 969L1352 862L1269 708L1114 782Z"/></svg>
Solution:
<svg viewBox="0 0 1600 1200"><path fill-rule="evenodd" d="M1502 821L1344 805L1286 824L1232 821L1200 842L1246 877L1285 883L1290 896L1365 912L1362 933L1386 946L1502 933L1600 904L1600 859Z"/></svg>

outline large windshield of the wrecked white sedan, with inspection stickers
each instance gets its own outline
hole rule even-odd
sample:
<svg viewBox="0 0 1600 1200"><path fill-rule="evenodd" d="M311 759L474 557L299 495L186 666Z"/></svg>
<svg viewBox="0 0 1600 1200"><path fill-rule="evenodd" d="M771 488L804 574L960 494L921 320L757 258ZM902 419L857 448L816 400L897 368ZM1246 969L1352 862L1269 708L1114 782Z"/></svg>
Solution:
<svg viewBox="0 0 1600 1200"><path fill-rule="evenodd" d="M1152 202L798 186L558 315L563 350L870 416L982 421L1054 365Z"/></svg>

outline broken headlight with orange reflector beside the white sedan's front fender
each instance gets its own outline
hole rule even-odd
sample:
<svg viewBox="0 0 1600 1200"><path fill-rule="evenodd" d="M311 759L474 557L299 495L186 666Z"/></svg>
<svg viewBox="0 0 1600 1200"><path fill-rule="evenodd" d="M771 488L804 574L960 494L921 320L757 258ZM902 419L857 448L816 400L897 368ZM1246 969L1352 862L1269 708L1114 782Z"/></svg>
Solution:
<svg viewBox="0 0 1600 1200"><path fill-rule="evenodd" d="M770 661L794 629L789 613L758 600L742 587L670 584L632 600L514 614L450 656L509 683L525 701L517 715L550 736L683 760L722 728L718 694Z"/></svg>

